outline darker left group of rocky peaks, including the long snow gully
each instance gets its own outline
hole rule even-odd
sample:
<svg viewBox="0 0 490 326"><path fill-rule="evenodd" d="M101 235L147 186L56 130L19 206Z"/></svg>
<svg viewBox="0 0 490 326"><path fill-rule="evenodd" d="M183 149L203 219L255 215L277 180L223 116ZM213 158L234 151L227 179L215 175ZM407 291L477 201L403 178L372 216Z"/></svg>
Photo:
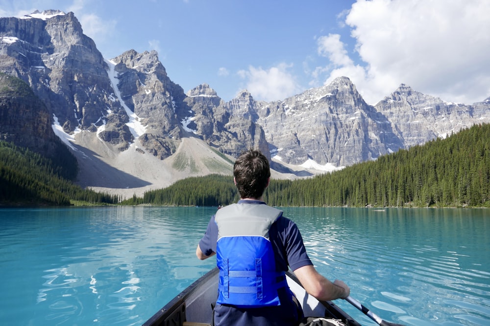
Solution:
<svg viewBox="0 0 490 326"><path fill-rule="evenodd" d="M56 118L67 134L97 132L119 151L138 139L143 152L160 159L175 152L183 135L202 137L232 155L259 143L268 152L265 138L258 139L260 127L249 120L242 127L208 86L187 96L155 51L129 50L104 60L73 13L1 18L0 37L0 71L28 83L52 114L51 123ZM255 129L258 136L246 137Z"/></svg>

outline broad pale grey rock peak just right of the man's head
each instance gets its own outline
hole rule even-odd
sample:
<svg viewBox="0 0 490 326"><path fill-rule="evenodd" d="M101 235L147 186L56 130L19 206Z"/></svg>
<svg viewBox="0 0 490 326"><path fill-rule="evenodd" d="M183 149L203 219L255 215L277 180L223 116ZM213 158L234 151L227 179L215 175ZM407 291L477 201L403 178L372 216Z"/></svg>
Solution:
<svg viewBox="0 0 490 326"><path fill-rule="evenodd" d="M263 104L258 122L281 160L350 165L396 151L390 121L366 104L346 77L282 102Z"/></svg>

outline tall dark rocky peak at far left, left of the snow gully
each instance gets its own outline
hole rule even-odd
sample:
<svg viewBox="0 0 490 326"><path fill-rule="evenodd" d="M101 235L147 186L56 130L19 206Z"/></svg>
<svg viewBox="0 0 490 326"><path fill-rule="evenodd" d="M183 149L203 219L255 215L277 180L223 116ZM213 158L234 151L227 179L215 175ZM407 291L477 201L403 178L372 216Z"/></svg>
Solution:
<svg viewBox="0 0 490 326"><path fill-rule="evenodd" d="M90 128L107 108L116 110L107 65L73 13L46 14L0 19L0 69L29 84L67 132Z"/></svg>

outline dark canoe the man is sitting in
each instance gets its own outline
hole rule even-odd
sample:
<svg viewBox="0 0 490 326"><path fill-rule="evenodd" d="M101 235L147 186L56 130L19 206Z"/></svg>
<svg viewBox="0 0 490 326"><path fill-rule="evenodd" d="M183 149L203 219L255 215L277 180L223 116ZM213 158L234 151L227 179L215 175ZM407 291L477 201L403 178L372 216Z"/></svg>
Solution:
<svg viewBox="0 0 490 326"><path fill-rule="evenodd" d="M212 306L218 296L218 275L218 267L211 269L158 310L143 326L211 325ZM348 326L360 326L331 301L319 301L308 295L291 271L286 273L286 278L306 317L333 318Z"/></svg>

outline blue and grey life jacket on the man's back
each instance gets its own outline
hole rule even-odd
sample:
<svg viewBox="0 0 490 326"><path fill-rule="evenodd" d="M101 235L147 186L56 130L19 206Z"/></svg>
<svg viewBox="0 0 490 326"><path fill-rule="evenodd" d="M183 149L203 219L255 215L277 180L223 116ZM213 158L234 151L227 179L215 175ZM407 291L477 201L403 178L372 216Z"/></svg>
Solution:
<svg viewBox="0 0 490 326"><path fill-rule="evenodd" d="M269 229L282 211L265 204L232 204L215 216L218 225L218 304L236 307L280 305L277 289L287 286L277 272Z"/></svg>

